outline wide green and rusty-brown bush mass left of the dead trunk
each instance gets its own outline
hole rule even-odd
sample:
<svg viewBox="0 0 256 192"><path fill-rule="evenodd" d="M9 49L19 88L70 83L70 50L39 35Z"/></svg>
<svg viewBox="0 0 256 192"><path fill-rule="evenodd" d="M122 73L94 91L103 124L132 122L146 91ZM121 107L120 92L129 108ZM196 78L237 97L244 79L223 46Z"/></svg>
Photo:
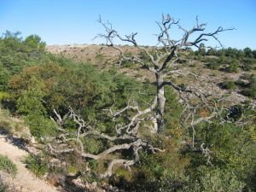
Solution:
<svg viewBox="0 0 256 192"><path fill-rule="evenodd" d="M67 107L72 106L86 120L109 121L103 108L113 104L121 108L131 96L143 107L152 98L139 96L139 91L149 92L149 95L154 91L150 84L138 83L112 71L99 73L94 67L82 64L77 67L57 64L26 67L10 81L10 87L17 97L17 112L34 123L37 121L34 126L28 124L38 131L41 130L38 119L46 120L53 108L65 113ZM50 121L45 123L45 120L42 125L50 125ZM105 130L109 126L102 124L99 129ZM34 131L32 133L40 136Z"/></svg>

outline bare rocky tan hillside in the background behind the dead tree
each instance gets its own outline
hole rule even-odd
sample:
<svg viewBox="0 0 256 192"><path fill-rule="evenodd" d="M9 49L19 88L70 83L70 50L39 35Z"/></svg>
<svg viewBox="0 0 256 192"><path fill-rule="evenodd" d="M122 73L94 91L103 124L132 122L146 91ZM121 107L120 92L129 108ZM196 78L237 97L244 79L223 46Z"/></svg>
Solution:
<svg viewBox="0 0 256 192"><path fill-rule="evenodd" d="M139 55L140 51L132 46L120 46L124 50L125 53L129 55ZM143 70L138 67L136 64L125 64L123 66L119 66L119 51L108 47L106 45L96 45L96 44L67 44L67 45L48 45L46 49L55 55L63 55L66 58L73 59L75 61L80 62L89 62L95 65L98 69L108 70L112 67L118 67L119 73L128 75L130 77L136 78L140 81L154 82L154 74ZM147 47L148 50L152 49ZM219 84L222 84L224 81L233 81L236 82L241 77L253 74L256 74L255 70L244 71L239 69L236 73L227 73L224 70L212 70L206 67L207 59L218 59L218 56L206 55L206 61L200 61L195 59L188 58L183 55L183 59L185 62L182 67L183 72L194 72L196 74L200 74L204 77L210 77L212 83L215 86L215 90L219 91L219 94L230 94L230 102L234 102L233 104L238 104L241 102L245 102L248 98L247 96L243 96L241 94L241 89L236 87L232 90L226 89L218 89ZM256 63L254 64L256 66ZM181 76L176 75L177 81L181 83L193 83L190 81L191 79L184 79ZM202 84L199 84L202 87ZM210 87L205 87L212 89ZM256 106L256 102L253 101L253 105Z"/></svg>

